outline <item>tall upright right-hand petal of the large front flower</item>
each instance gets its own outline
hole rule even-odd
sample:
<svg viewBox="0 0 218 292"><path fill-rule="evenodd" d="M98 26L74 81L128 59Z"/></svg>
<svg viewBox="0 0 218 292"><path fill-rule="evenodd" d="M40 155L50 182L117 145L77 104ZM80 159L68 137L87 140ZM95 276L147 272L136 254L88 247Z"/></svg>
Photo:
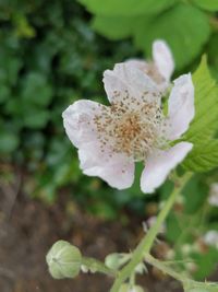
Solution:
<svg viewBox="0 0 218 292"><path fill-rule="evenodd" d="M169 97L167 138L170 140L180 138L187 130L194 114L194 85L191 74L184 74L174 80Z"/></svg>

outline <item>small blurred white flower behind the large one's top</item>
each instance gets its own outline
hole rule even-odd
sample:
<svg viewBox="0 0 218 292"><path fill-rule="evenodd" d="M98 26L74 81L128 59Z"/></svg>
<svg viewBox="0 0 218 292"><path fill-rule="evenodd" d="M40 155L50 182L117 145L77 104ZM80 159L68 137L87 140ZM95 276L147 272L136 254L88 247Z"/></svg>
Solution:
<svg viewBox="0 0 218 292"><path fill-rule="evenodd" d="M128 60L133 67L142 70L156 83L160 92L165 92L170 83L174 70L174 61L170 48L165 40L158 39L153 43L153 61L137 59Z"/></svg>

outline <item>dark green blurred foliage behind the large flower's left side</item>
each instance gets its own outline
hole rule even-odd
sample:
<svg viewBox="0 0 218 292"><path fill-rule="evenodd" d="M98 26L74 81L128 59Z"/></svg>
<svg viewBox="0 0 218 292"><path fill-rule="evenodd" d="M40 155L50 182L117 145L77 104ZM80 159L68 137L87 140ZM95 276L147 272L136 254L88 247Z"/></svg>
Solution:
<svg viewBox="0 0 218 292"><path fill-rule="evenodd" d="M52 201L57 188L71 183L80 201L97 201L93 212L113 218L128 199L121 195L113 203L100 180L82 175L61 114L78 98L107 102L102 71L135 56L135 48L97 36L89 15L70 0L1 1L0 44L2 160L27 170L31 196Z"/></svg>

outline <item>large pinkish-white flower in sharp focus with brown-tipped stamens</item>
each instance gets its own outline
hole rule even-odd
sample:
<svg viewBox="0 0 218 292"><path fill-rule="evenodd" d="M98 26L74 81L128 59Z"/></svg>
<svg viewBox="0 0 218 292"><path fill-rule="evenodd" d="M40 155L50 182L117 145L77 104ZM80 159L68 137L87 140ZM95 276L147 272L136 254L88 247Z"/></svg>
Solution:
<svg viewBox="0 0 218 292"><path fill-rule="evenodd" d="M118 63L112 71L105 71L104 83L110 106L81 100L63 112L66 133L78 149L81 168L124 189L133 184L135 162L143 161L141 188L153 192L192 149L189 142L170 147L194 117L191 74L174 81L167 117L157 86L131 63Z"/></svg>

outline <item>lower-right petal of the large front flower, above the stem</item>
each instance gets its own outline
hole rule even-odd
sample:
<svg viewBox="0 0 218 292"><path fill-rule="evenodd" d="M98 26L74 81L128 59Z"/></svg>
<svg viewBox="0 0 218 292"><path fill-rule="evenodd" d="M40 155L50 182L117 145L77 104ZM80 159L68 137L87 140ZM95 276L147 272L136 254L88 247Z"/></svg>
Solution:
<svg viewBox="0 0 218 292"><path fill-rule="evenodd" d="M173 170L186 154L193 144L180 142L169 150L156 150L148 156L141 177L141 188L144 192L154 192L159 187L171 170Z"/></svg>

